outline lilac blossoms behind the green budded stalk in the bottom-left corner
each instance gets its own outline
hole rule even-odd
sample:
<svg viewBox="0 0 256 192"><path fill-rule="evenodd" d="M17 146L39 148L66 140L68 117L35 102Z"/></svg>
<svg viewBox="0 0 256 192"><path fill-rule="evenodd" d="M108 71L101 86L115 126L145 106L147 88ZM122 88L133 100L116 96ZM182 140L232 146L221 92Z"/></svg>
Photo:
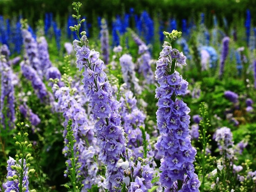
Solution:
<svg viewBox="0 0 256 192"><path fill-rule="evenodd" d="M16 170L12 169L11 166L14 165L14 166L17 166L17 167L20 167L20 164L21 164L21 159L19 160L19 163L16 162L16 160L14 160L12 157L9 157L9 160L7 160L7 176L6 178L8 177L13 177L13 176L18 176L19 177L19 174L17 173ZM25 159L24 159L24 172L23 172L23 182L22 182L22 186L23 188L25 188L25 190L22 190L24 192L29 192L28 190L28 169L27 167L25 166L26 165L26 162L25 162ZM5 192L19 192L20 189L19 189L19 182L18 180L13 180L13 181L7 181L3 187L5 188Z"/></svg>

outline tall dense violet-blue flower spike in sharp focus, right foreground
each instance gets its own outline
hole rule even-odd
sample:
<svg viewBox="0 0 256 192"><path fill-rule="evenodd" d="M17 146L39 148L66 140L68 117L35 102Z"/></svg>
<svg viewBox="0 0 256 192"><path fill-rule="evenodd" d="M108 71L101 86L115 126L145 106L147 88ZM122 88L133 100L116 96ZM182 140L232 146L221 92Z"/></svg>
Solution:
<svg viewBox="0 0 256 192"><path fill-rule="evenodd" d="M176 32L164 32L164 35L172 40ZM178 191L179 188L182 191L198 191L200 182L193 165L196 149L191 146L188 129L190 109L176 98L186 94L188 82L175 71L177 64L186 65L186 56L172 48L170 43L164 42L155 72L160 84L156 88L156 98L159 99L156 118L161 136L155 145L159 155L163 156L159 168L162 171L160 182L165 191ZM178 181L182 185L178 185Z"/></svg>

